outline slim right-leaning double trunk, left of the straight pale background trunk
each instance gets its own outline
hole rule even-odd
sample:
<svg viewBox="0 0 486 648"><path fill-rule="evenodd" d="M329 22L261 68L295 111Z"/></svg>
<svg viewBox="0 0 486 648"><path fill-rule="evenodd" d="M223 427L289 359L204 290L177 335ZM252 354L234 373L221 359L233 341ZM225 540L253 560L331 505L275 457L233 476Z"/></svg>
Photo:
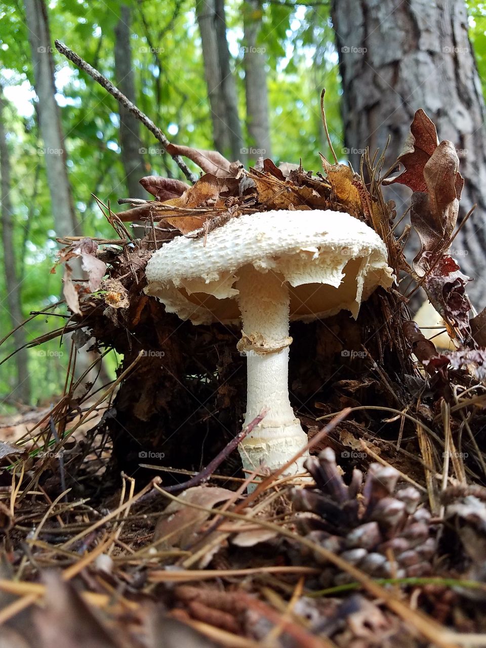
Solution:
<svg viewBox="0 0 486 648"><path fill-rule="evenodd" d="M204 76L211 106L215 148L232 160L242 159L235 79L229 65L224 1L196 0Z"/></svg>

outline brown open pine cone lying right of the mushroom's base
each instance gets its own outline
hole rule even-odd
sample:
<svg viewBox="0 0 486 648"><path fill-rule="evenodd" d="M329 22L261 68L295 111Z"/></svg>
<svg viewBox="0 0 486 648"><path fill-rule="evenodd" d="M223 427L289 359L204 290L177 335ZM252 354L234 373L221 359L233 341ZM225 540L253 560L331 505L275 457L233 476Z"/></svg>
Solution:
<svg viewBox="0 0 486 648"><path fill-rule="evenodd" d="M362 487L362 472L356 469L351 483L344 483L330 448L304 465L317 487L294 490L294 509L306 512L297 516L301 533L375 578L432 573L437 543L430 513L418 507L421 494L417 489L409 486L395 492L397 470L372 463ZM390 550L395 564L390 561ZM314 557L323 564L318 553ZM330 569L321 583L351 580L347 573L336 575Z"/></svg>

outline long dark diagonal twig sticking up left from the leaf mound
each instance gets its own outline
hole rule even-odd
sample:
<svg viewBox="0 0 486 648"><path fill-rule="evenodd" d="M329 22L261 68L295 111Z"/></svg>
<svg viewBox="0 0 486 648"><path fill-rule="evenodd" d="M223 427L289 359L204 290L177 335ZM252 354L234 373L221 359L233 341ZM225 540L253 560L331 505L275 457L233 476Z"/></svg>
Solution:
<svg viewBox="0 0 486 648"><path fill-rule="evenodd" d="M149 119L145 115L145 113L139 110L139 108L137 108L135 104L132 104L130 99L126 98L125 95L121 93L117 87L113 86L113 84L108 81L106 76L100 74L97 69L89 65L89 63L87 63L78 54L76 54L76 52L73 52L72 49L69 49L69 47L62 43L62 41L55 40L54 45L56 45L56 49L61 54L64 54L66 58L72 61L80 69L87 72L87 74L89 74L91 78L93 78L98 84L100 84L100 86L104 87L104 89L107 90L110 95L115 97L119 104L121 104L127 110L130 110L130 112L135 115L135 117L137 117L139 121L142 122L145 128L148 128L148 130L150 130L150 132L156 136L161 145L163 145L163 147L167 149L167 146L170 144L170 142L168 141L167 137L165 137L160 128L157 128L152 119ZM196 174L192 173L191 169L187 166L185 161L183 161L181 156L172 156L172 159L174 159L174 162L176 163L176 165L178 165L178 167L188 180L191 180L192 183L196 182L198 177L196 176Z"/></svg>

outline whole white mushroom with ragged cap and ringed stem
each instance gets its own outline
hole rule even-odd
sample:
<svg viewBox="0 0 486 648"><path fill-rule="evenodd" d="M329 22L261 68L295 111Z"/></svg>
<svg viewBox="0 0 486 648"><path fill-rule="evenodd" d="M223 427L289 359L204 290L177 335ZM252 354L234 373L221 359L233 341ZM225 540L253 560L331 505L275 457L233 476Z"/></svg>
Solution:
<svg viewBox="0 0 486 648"><path fill-rule="evenodd" d="M178 237L146 266L145 292L192 323L242 321L245 424L267 413L239 450L245 472L282 467L307 444L288 399L289 319L312 321L346 309L354 318L377 286L393 283L384 242L335 211L268 211L232 218L203 238ZM306 455L287 474L303 469Z"/></svg>

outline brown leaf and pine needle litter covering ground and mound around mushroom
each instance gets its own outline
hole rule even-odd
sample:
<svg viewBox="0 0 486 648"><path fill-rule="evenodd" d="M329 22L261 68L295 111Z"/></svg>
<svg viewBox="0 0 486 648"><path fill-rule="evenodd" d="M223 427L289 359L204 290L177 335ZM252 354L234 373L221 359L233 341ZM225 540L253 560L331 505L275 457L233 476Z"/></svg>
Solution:
<svg viewBox="0 0 486 648"><path fill-rule="evenodd" d="M118 214L100 204L117 238L61 240L72 315L55 334L88 331L98 353L122 360L114 383L97 394L84 384L76 397L71 364L60 402L2 442L6 645L452 646L486 636L485 316L469 318L469 278L448 253L463 185L454 146L419 110L396 178L382 176L384 152L372 163L366 151L358 173L325 158L314 173L170 147L202 169L192 187L143 178L153 200L123 199L132 207ZM412 266L384 200L393 182L413 192ZM225 450L244 412L235 336L181 325L143 293L144 270L174 237L211 237L229 218L270 209L334 209L373 227L456 351L437 352L398 285L376 291L356 321L305 325L290 386L312 480L262 474L246 495L249 478ZM132 220L145 224L140 238ZM203 465L220 453L209 472L203 436ZM184 476L191 487L178 486Z"/></svg>

